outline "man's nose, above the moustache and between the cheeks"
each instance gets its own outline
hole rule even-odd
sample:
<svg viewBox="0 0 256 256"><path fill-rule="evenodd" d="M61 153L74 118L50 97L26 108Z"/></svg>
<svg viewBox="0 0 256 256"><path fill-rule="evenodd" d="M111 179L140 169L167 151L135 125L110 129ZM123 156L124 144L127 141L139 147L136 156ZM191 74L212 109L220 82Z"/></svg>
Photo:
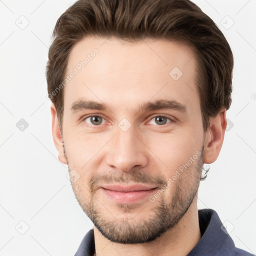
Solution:
<svg viewBox="0 0 256 256"><path fill-rule="evenodd" d="M131 126L123 131L117 127L117 134L109 141L106 161L111 168L128 172L134 167L144 167L148 163L149 149Z"/></svg>

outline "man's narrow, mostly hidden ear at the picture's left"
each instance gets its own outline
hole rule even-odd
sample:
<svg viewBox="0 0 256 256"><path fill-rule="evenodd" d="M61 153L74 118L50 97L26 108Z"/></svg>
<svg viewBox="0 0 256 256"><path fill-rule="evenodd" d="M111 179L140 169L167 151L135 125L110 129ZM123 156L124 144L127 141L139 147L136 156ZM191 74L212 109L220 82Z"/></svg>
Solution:
<svg viewBox="0 0 256 256"><path fill-rule="evenodd" d="M57 118L57 111L53 103L50 106L50 112L52 117L52 123L51 123L52 137L53 137L54 145L58 150L58 159L62 163L67 164L66 157L64 154L61 130L60 130L58 118Z"/></svg>

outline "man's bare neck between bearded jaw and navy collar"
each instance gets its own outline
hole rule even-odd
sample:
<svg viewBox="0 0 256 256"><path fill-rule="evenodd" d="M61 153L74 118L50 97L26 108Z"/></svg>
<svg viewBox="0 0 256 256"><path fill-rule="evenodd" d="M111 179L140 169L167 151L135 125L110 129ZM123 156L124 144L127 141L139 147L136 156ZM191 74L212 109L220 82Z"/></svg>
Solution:
<svg viewBox="0 0 256 256"><path fill-rule="evenodd" d="M143 255L143 256L184 256L192 250L201 238L196 205L197 196L187 212L172 228L155 240L138 244L110 242L94 226L95 252L97 255Z"/></svg>

